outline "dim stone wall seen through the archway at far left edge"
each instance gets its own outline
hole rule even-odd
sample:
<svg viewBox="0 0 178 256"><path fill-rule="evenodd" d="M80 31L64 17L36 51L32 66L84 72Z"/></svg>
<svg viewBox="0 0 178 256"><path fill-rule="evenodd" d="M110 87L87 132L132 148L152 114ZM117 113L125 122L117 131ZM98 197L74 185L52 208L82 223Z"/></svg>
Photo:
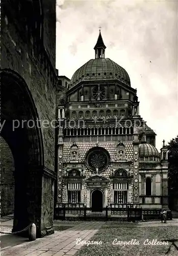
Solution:
<svg viewBox="0 0 178 256"><path fill-rule="evenodd" d="M14 212L14 159L9 145L0 137L1 150L1 216Z"/></svg>

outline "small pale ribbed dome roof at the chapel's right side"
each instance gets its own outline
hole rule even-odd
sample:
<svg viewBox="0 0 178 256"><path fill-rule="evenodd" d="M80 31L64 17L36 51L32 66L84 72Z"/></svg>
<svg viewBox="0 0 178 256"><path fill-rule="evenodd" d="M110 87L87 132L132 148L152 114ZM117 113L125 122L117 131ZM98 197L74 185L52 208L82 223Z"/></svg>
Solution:
<svg viewBox="0 0 178 256"><path fill-rule="evenodd" d="M139 157L159 157L159 152L153 145L143 142L139 144Z"/></svg>

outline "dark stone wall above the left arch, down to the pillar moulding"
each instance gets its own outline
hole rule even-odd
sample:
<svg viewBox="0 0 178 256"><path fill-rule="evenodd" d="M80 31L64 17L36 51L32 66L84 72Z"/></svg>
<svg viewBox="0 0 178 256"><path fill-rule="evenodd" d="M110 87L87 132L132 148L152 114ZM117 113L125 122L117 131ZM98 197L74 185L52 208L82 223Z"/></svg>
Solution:
<svg viewBox="0 0 178 256"><path fill-rule="evenodd" d="M1 3L1 69L17 72L26 81L41 123L43 120L51 122L55 119L57 79L56 2L43 1L43 22L41 25L35 22L34 26L39 26L36 30L35 27L29 26L28 14L22 17L22 13L30 10L26 2L23 0L21 2L23 5L19 5L19 1ZM33 17L33 12L30 16ZM41 37L40 33L42 33ZM45 128L46 126L49 127ZM42 127L44 165L54 170L55 129L50 124L45 127Z"/></svg>

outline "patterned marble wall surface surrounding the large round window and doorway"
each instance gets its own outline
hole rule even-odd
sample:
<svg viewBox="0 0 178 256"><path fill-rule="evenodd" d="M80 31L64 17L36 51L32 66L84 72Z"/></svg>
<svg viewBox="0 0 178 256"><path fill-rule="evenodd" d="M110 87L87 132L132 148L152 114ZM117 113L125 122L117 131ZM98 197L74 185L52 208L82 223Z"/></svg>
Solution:
<svg viewBox="0 0 178 256"><path fill-rule="evenodd" d="M79 156L80 159L79 161L70 161L68 162L68 156L70 154L70 148L72 146L72 142L65 142L63 145L63 168L59 165L58 166L58 170L62 169L62 175L63 176L67 176L68 172L73 169L73 168L77 168L77 169L82 169L83 170L83 176L85 176L85 178L82 179L82 191L81 191L81 202L84 203L85 205L89 205L90 202L90 187L88 187L86 179L96 175L96 172L93 172L92 170L89 170L85 164L85 156L87 154L87 152L90 150L90 148L95 147L95 146L100 146L100 147L104 147L110 154L110 160L111 160L111 164L108 166L107 169L105 169L103 172L99 173L99 176L104 177L106 179L109 180L107 187L105 187L105 191L106 191L106 204L110 204L113 203L113 184L112 184L112 180L110 179L110 176L112 175L113 169L118 169L118 168L123 168L126 170L126 172L130 173L130 174L134 174L135 173L135 168L133 166L132 162L129 161L133 161L133 155L134 155L134 149L133 149L133 144L132 142L129 141L122 141L122 143L125 146L125 155L127 156L127 160L119 160L118 162L115 160L115 156L117 154L117 145L119 143L119 141L117 142L99 142L96 145L96 142L75 142L78 146L79 149ZM61 159L60 159L60 162ZM138 170L137 170L138 172ZM60 172L58 173L58 178L60 176ZM137 176L138 177L138 176ZM66 178L63 179L63 181L66 180ZM138 190L134 191L134 181L133 179L130 180L129 183L129 203L133 203L133 199L134 199L134 195L136 193L138 193ZM65 184L66 185L66 184ZM63 187L63 189L61 189L61 195L63 197L63 202L67 201L67 188L64 186L61 186L61 184L58 183L59 187ZM58 190L59 191L59 190ZM59 195L58 195L59 198Z"/></svg>

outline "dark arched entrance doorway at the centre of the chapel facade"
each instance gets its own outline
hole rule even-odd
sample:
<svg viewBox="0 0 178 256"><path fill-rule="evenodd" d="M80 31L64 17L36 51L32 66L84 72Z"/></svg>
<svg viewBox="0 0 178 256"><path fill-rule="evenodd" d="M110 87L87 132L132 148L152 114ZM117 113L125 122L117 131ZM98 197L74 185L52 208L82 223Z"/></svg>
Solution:
<svg viewBox="0 0 178 256"><path fill-rule="evenodd" d="M101 211L103 209L103 192L99 189L95 189L91 194L91 208L92 211Z"/></svg>

